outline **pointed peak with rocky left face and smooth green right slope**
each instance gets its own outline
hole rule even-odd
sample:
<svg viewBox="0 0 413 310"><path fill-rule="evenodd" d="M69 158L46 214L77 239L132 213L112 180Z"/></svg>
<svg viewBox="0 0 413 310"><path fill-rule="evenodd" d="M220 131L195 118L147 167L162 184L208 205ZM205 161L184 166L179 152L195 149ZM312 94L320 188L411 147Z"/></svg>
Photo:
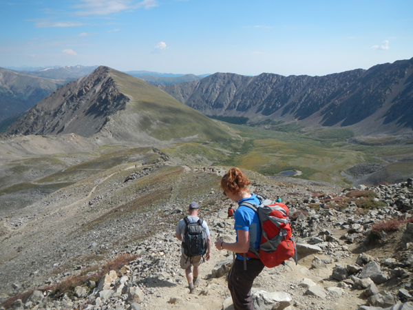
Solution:
<svg viewBox="0 0 413 310"><path fill-rule="evenodd" d="M229 138L215 122L156 86L100 66L60 87L13 123L8 134L78 134L104 141Z"/></svg>

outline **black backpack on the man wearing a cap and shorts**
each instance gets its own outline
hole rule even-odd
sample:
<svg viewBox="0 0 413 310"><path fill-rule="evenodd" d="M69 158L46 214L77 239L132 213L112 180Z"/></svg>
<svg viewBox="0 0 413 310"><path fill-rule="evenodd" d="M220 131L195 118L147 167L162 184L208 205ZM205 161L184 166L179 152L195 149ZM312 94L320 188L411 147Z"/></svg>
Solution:
<svg viewBox="0 0 413 310"><path fill-rule="evenodd" d="M182 247L184 254L188 257L204 256L208 249L207 231L202 227L203 220L189 223L188 217L184 218L186 227Z"/></svg>

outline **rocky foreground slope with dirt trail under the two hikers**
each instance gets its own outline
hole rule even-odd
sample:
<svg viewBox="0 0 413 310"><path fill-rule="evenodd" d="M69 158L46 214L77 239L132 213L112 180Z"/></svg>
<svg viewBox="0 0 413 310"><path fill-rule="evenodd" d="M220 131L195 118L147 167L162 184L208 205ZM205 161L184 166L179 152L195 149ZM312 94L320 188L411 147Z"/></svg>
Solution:
<svg viewBox="0 0 413 310"><path fill-rule="evenodd" d="M162 153L156 162L113 167L1 218L2 300L37 287L20 301L15 298L13 307L222 309L224 303L227 309L231 302L226 300L224 274L231 256L213 249L211 260L202 265L196 294L189 295L174 238L176 221L195 200L213 240L233 240L233 220L226 218L229 200L218 189L227 168L214 167L211 173L177 166ZM399 232L381 232L378 241L370 238L375 224L412 216L412 185L344 190L247 173L253 192L281 196L290 207L299 253L299 265L290 261L289 267L265 269L257 278L257 289L277 292L271 297L257 293L257 309L377 310L412 300L412 224L401 225ZM366 191L376 193L380 209L359 208ZM41 289L124 253L138 258L108 275L106 282L95 283L96 289L90 282L75 296L57 300L52 291ZM264 300L273 301L264 306Z"/></svg>

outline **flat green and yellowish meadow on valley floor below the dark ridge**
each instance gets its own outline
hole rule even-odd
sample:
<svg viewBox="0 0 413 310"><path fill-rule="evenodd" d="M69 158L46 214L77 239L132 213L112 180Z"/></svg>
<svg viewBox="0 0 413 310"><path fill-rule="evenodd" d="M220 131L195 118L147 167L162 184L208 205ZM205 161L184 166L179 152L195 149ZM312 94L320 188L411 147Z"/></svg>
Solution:
<svg viewBox="0 0 413 310"><path fill-rule="evenodd" d="M220 122L222 123L222 122ZM301 132L295 127L282 127L282 131L266 130L260 127L248 127L223 123L233 134L242 138L242 143L235 147L228 145L228 152L203 152L209 156L212 165L237 166L251 169L264 175L278 174L286 170L302 172L295 178L322 180L338 185L350 184L341 172L359 163L382 163L394 158L399 161L388 167L392 174L405 177L413 175L413 145L401 142L398 138L369 138L368 143L349 143L354 137L347 129L321 129ZM289 130L287 130L289 129ZM392 144L391 144L392 143ZM197 147L180 145L186 153L195 158ZM168 154L171 152L165 149ZM176 153L176 148L173 149ZM184 156L184 152L178 152ZM410 161L406 161L410 159ZM385 179L385 176L383 176Z"/></svg>

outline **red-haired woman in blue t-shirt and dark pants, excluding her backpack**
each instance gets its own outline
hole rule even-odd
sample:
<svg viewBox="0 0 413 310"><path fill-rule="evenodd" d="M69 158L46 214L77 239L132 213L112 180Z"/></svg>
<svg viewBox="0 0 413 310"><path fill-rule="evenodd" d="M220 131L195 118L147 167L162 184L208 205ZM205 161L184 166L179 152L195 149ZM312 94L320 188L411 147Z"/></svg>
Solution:
<svg viewBox="0 0 413 310"><path fill-rule="evenodd" d="M243 202L255 203L260 205L255 194L250 194L248 185L250 180L237 168L232 168L221 178L221 189L224 195L238 203L239 207L235 211L235 230L237 231L236 242L215 241L218 250L226 249L235 252L236 259L228 275L228 288L233 299L234 309L254 309L251 298L251 287L254 279L264 269L264 264L258 258L246 258L246 270L244 270L244 253L248 252L251 246L257 248L261 241L260 218L258 214L242 205Z"/></svg>

